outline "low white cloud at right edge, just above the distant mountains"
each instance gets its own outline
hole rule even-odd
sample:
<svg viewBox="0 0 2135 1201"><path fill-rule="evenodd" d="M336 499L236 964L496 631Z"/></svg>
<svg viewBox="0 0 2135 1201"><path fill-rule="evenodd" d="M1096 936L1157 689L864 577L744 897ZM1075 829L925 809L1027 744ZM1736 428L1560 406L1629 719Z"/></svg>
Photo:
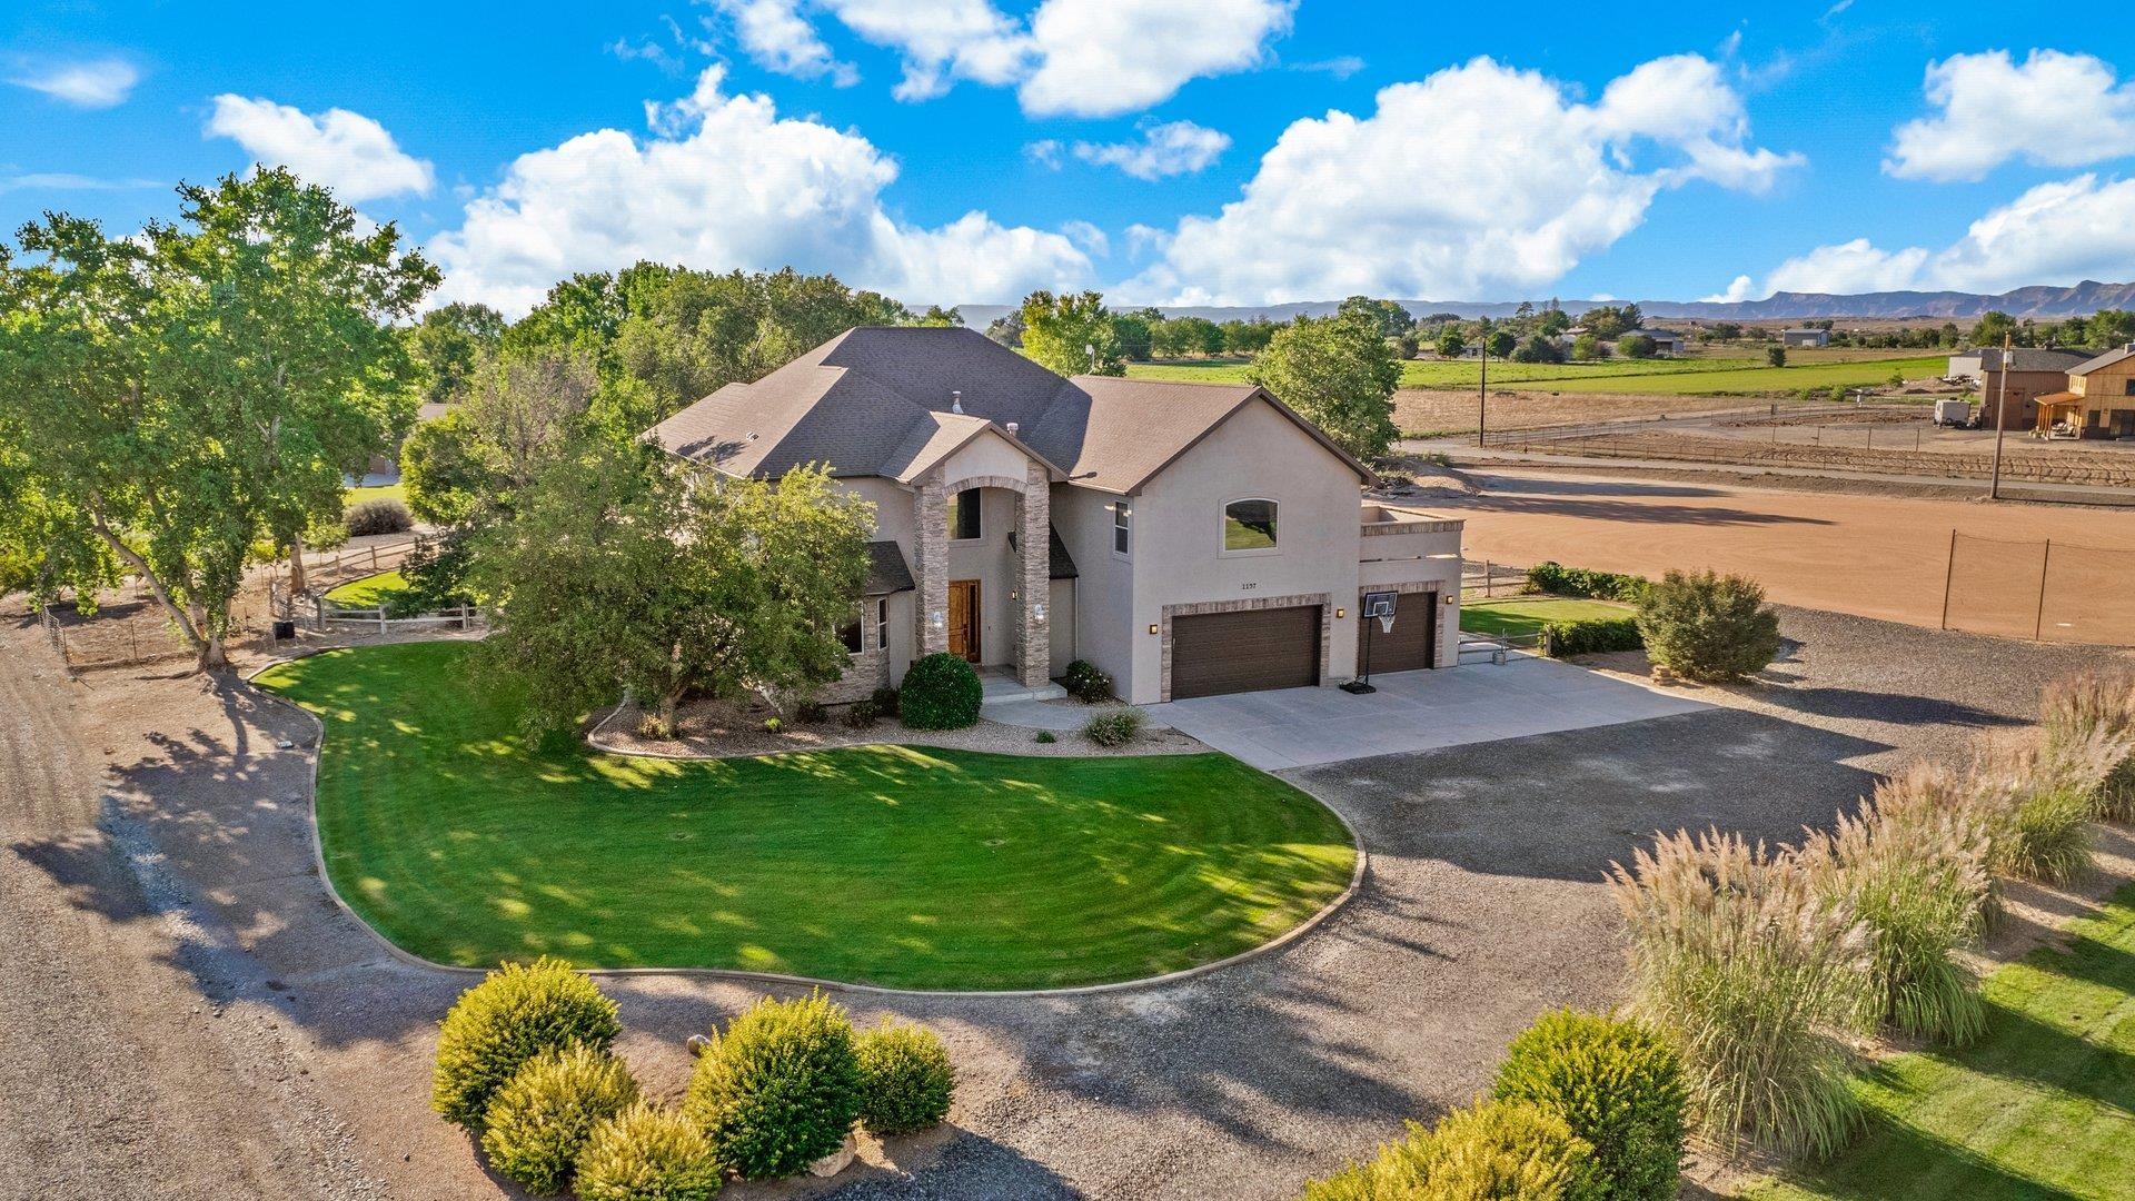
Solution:
<svg viewBox="0 0 2135 1201"><path fill-rule="evenodd" d="M2120 282L2135 263L2135 180L2039 184L1943 248L1883 250L1866 237L1819 246L1766 280L1789 293L1964 291Z"/></svg>

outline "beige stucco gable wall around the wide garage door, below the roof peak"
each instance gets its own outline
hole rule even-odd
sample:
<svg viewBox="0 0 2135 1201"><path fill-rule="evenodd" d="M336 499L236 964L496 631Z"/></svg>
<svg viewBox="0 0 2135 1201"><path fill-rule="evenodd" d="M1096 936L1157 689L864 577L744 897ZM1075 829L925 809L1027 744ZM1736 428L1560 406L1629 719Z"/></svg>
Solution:
<svg viewBox="0 0 2135 1201"><path fill-rule="evenodd" d="M1159 472L1136 498L1129 671L1121 692L1164 699L1166 605L1328 594L1343 618L1328 630L1322 684L1356 671L1358 477L1275 406L1255 400ZM1225 551L1223 504L1277 502L1272 551ZM1089 590L1085 588L1085 594ZM1087 658L1087 656L1085 656ZM1110 671L1110 669L1108 669Z"/></svg>

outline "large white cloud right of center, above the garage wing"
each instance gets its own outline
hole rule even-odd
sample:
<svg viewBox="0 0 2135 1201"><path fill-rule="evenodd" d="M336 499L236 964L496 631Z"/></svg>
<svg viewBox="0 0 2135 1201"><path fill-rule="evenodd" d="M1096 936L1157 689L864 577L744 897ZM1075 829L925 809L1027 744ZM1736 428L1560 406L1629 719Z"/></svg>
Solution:
<svg viewBox="0 0 2135 1201"><path fill-rule="evenodd" d="M1236 201L1183 218L1121 291L1170 303L1527 293L1638 229L1663 188L1755 192L1796 162L1749 143L1742 98L1697 56L1646 62L1597 103L1477 58L1383 88L1369 115L1294 122Z"/></svg>

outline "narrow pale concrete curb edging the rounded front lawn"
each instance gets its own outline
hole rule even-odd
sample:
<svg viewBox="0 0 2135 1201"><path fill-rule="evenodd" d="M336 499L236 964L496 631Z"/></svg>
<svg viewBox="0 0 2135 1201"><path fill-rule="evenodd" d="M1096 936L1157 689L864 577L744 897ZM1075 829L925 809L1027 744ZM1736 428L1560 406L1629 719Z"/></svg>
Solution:
<svg viewBox="0 0 2135 1201"><path fill-rule="evenodd" d="M241 677L243 684L246 684L246 688L250 688L256 697L260 697L267 703L280 705L284 709L290 709L290 712L303 716L305 720L312 722L312 729L316 731L316 737L314 737L310 754L307 754L312 769L310 769L310 778L307 778L307 786L305 786L305 825L310 825L310 831L312 831L312 870L318 872L318 885L333 900L335 908L339 908L344 915L348 915L348 919L354 921L357 925L361 925L363 932L371 936L371 940L376 940L380 947L384 947L386 955L391 955L391 957L395 957L395 960L399 960L399 962L404 962L404 964L408 964L412 968L427 968L427 970L433 970L433 972L446 972L446 974L459 974L459 977L487 977L491 972L491 968L463 968L459 964L440 964L436 960L425 960L423 955L406 951L404 947L399 947L397 942L393 942L391 938L386 938L384 934L380 934L376 925L371 925L369 921L365 921L363 915L357 913L354 906L350 906L346 898L342 898L342 891L337 887L333 887L333 876L327 872L327 846L325 846L325 842L320 838L320 831L318 831L318 757L327 748L327 722L325 722L325 718L320 718L312 709L305 709L303 705L299 705L299 703L295 703L295 701L290 701L290 699L273 692L271 688L263 688L260 684L254 682L260 675L273 671L275 667L282 667L286 662L297 662L299 658L312 658L314 654L325 654L329 650L352 650L352 648L307 648L301 654L290 654L290 656L284 656L284 658L275 658L273 662L267 662L267 665L263 665L263 667L258 667L254 671L248 671ZM596 746L591 739L587 739L587 746L591 750L598 750L600 754L617 754L613 750L604 750L604 748ZM869 746L895 746L895 744L869 744ZM1221 754L1221 752L1219 750L1211 750L1211 754ZM649 754L645 759L660 759L660 757ZM1281 776L1272 776L1272 778L1281 780ZM1283 784L1290 784L1292 789L1298 789L1290 780L1283 780ZM743 970L743 968L576 968L576 970L581 970L581 972L585 972L589 977L623 977L623 979L628 979L628 977L683 977L683 979L709 979L709 981L732 981L732 983L769 983L769 985L788 985L788 987L820 987L820 989L839 989L839 992L854 992L854 994L865 994L865 996L892 996L892 998L895 996L914 996L914 998L1001 998L1001 1000L1014 1000L1014 998L1046 998L1046 996L1097 996L1097 994L1110 994L1110 992L1140 992L1140 989L1166 987L1166 985L1174 985L1174 983L1183 983L1183 981L1189 981L1189 979L1196 979L1196 977L1204 977L1204 974L1217 972L1221 968L1230 968L1230 966L1243 964L1247 960L1255 960L1260 955L1266 955L1270 951L1277 951L1281 947L1287 947L1287 945L1296 942L1304 934L1311 934L1313 930L1317 930L1326 919L1334 917L1334 913L1341 910L1343 906L1347 906L1349 898L1354 898L1364 887L1364 870L1369 868L1371 857L1364 851L1364 840L1358 836L1356 827L1349 825L1349 816L1343 814L1339 808L1326 804L1324 799L1315 797L1313 793L1304 791L1304 789L1298 789L1298 793L1302 793L1304 797L1309 797L1315 806L1319 806L1319 808L1328 810L1330 814L1334 814L1334 821L1339 821L1341 827L1349 833L1349 846L1356 851L1356 865L1349 870L1349 885L1334 900L1330 900L1328 904L1319 906L1311 917L1307 917L1304 921L1300 921L1300 923L1292 925L1290 930L1277 934L1268 942L1262 942L1258 947L1249 947L1245 951L1238 951L1236 955L1225 955L1221 960L1211 960L1206 964L1196 964L1191 968L1179 968L1176 972L1164 972L1159 977L1142 977L1142 979L1136 979L1136 981L1112 981L1112 983L1102 983L1102 985L1035 987L1035 989L910 989L910 987L882 987L882 985L863 985L863 983L850 983L850 981L831 981L831 979L822 979L822 977L796 977L796 974L786 974L786 972L749 972L749 970Z"/></svg>

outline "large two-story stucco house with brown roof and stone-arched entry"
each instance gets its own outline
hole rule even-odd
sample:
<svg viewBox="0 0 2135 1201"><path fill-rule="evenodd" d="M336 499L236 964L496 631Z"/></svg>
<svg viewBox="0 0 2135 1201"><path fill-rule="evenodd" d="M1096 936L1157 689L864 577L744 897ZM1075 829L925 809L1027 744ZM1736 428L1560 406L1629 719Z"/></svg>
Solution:
<svg viewBox="0 0 2135 1201"><path fill-rule="evenodd" d="M824 703L959 654L1025 690L1085 658L1155 703L1458 658L1460 521L1369 504L1373 472L1251 385L1061 378L971 329L863 327L662 421L670 453L875 504L852 667Z"/></svg>

